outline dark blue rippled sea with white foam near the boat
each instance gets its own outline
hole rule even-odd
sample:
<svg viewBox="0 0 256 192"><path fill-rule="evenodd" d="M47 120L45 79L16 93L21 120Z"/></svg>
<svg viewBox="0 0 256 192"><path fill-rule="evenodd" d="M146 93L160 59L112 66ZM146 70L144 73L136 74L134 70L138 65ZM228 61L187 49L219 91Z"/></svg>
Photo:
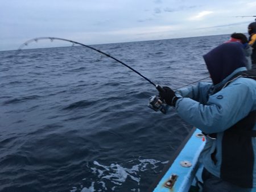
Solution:
<svg viewBox="0 0 256 192"><path fill-rule="evenodd" d="M228 39L92 47L176 89L208 77L202 56ZM0 78L0 191L147 191L192 128L147 107L153 85L85 47L2 51Z"/></svg>

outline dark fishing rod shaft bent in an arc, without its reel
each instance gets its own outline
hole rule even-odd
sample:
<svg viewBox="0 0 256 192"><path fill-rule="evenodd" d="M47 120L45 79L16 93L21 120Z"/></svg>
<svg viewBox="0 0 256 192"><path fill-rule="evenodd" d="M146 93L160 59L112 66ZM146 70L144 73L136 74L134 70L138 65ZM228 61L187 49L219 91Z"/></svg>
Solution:
<svg viewBox="0 0 256 192"><path fill-rule="evenodd" d="M159 91L163 91L163 88L162 88L161 86L154 84L154 82L150 81L147 77L143 76L143 75L142 75L141 73L139 73L137 70L131 68L131 66L129 66L129 65L125 64L124 62L122 62L122 61L116 59L115 57L109 55L108 53L105 53L105 52L103 52L103 51L101 51L101 50L99 50L99 49L96 49L96 48L94 48L94 47L90 47L89 45L85 45L85 44L79 43L79 42L77 42L77 41L72 41L72 40L63 39L63 38L59 38L59 37L38 37L38 38L30 39L30 40L26 41L25 43L23 43L22 45L20 45L20 47L18 48L18 52L21 51L22 48L23 48L24 46L27 46L28 44L30 44L30 43L32 43L32 42L36 42L36 43L37 43L38 40L44 40L44 39L49 39L49 40L51 40L51 41L53 41L53 40L68 41L68 42L72 43L72 46L74 46L75 44L78 44L78 45L82 45L83 47L87 47L87 48L93 49L94 51L97 51L97 52L99 52L99 53L101 53L101 54L103 54L103 55L105 55L105 56L107 56L107 57L110 57L111 59L113 59L113 60L115 60L115 61L121 63L122 65L125 65L127 68L133 70L133 71L134 71L135 73L137 73L139 76L141 76L142 78L144 78L144 80L147 80L148 82L150 82L150 84L154 85L154 86L156 87L156 89L158 89ZM207 78L209 78L209 77L207 77ZM201 79L201 80L205 80L205 79L206 79L206 78L203 78L203 79ZM199 81L201 81L201 80L198 80L198 81L195 81L195 82L199 82ZM191 84L194 84L195 82L192 82ZM187 85L191 85L191 84L187 84ZM187 86L187 85L184 85L184 86ZM184 87L184 86L181 86L181 87ZM179 88L181 88L181 87L179 87ZM177 88L177 89L179 89L179 88Z"/></svg>

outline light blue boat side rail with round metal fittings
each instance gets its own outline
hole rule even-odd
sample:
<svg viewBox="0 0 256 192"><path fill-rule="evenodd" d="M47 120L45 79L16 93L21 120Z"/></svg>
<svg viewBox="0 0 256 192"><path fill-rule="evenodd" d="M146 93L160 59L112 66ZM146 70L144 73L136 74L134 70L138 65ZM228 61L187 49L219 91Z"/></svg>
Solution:
<svg viewBox="0 0 256 192"><path fill-rule="evenodd" d="M199 156L204 145L204 135L193 127L149 191L200 192L203 165ZM256 192L256 188L252 192Z"/></svg>

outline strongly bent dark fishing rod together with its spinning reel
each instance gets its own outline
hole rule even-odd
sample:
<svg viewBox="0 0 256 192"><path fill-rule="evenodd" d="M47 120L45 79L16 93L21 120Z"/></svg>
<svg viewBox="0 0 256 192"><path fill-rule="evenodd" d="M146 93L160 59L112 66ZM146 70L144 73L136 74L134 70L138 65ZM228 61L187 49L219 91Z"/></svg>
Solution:
<svg viewBox="0 0 256 192"><path fill-rule="evenodd" d="M141 76L142 78L144 78L144 80L147 80L148 82L150 82L150 84L154 85L156 87L156 89L161 92L161 91L164 91L163 88L160 86L160 85L156 85L154 84L154 82L150 81L147 77L143 76L141 73L139 73L137 70L131 68L131 66L125 64L124 62L116 59L115 57L109 55L108 53L105 53L99 49L96 49L94 47L90 47L89 45L85 45L85 44L82 44L82 43L79 43L77 41L72 41L72 40L68 40L68 39L63 39L63 38L59 38L59 37L38 37L38 38L34 38L34 39L30 39L28 41L26 41L25 43L23 43L22 45L20 45L20 47L18 48L18 51L20 51L24 46L27 46L29 43L32 43L32 42L38 42L38 40L43 40L43 39L49 39L51 41L53 40L61 40L61 41L68 41L70 43L72 43L72 46L75 45L75 44L78 44L78 45L82 45L83 47L86 47L86 48L90 48L90 49L93 49L94 51L97 51L107 57L110 57L111 59L121 63L122 65L125 65L127 68L133 70L135 73L137 73L139 76ZM209 77L207 77L209 78ZM207 78L203 78L201 80L205 80ZM199 82L201 80L198 80L198 81L195 81L195 82ZM191 84L194 84L195 82L192 82L190 84L187 84L187 85L191 85ZM187 86L187 85L184 85L184 86ZM184 86L181 86L181 87L184 87ZM181 88L179 87L179 88ZM177 89L179 89L177 88ZM150 102L148 103L148 107L152 108L153 110L155 111L161 111L163 112L163 114L166 114L167 110L168 110L168 105L166 105L166 103L164 103L160 97L158 95L155 95L155 96L152 96L150 97Z"/></svg>

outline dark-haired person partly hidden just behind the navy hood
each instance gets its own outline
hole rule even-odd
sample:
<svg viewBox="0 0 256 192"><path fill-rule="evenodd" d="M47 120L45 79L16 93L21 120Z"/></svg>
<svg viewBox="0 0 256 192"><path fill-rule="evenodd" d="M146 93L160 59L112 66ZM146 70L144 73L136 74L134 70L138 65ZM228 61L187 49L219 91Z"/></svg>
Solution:
<svg viewBox="0 0 256 192"><path fill-rule="evenodd" d="M249 45L247 37L244 34L241 33L233 33L231 35L231 38L226 41L225 43L229 42L240 42L243 44L243 50L245 51L245 57L246 57L246 69L251 69L251 54L253 53L253 48Z"/></svg>

